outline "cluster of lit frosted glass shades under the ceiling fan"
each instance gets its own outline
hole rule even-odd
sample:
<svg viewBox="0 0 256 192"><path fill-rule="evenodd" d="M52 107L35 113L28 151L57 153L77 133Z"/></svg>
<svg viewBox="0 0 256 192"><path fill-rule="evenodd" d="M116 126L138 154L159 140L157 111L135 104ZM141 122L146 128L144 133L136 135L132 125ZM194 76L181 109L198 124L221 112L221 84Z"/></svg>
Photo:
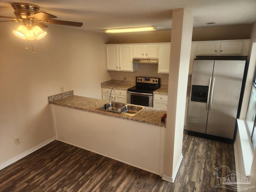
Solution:
<svg viewBox="0 0 256 192"><path fill-rule="evenodd" d="M43 31L39 26L35 26L31 30L28 30L24 25L20 25L16 30L13 30L12 32L17 37L26 40L42 39L47 34L47 32Z"/></svg>

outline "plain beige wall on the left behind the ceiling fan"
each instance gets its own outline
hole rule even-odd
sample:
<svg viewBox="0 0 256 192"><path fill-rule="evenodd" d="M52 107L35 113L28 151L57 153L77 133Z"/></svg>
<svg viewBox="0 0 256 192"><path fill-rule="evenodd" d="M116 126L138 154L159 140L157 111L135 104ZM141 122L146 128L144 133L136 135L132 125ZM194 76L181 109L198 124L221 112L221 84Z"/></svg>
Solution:
<svg viewBox="0 0 256 192"><path fill-rule="evenodd" d="M100 82L110 79L104 34L49 24L43 39L27 41L12 34L16 27L0 30L0 164L54 137L47 97L60 86L101 98Z"/></svg>

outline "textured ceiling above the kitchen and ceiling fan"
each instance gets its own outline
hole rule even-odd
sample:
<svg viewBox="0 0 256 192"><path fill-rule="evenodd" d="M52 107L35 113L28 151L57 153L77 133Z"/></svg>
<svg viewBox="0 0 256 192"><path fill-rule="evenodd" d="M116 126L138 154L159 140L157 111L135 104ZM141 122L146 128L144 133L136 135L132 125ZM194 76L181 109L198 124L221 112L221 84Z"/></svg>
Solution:
<svg viewBox="0 0 256 192"><path fill-rule="evenodd" d="M0 15L14 17L10 5L13 2L23 1L1 0ZM151 25L168 30L172 9L177 8L186 8L194 16L194 27L206 27L206 22L223 26L256 21L256 0L26 0L24 3L40 6L39 12L55 15L57 20L82 22L83 30L97 32Z"/></svg>

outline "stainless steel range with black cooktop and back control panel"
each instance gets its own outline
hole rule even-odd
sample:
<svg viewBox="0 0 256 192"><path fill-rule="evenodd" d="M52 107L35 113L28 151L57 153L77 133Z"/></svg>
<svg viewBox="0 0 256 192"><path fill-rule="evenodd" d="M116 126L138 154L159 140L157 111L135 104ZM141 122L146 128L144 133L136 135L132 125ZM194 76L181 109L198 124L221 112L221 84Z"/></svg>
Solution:
<svg viewBox="0 0 256 192"><path fill-rule="evenodd" d="M127 90L127 102L153 107L153 92L160 88L160 78L136 77L136 86Z"/></svg>

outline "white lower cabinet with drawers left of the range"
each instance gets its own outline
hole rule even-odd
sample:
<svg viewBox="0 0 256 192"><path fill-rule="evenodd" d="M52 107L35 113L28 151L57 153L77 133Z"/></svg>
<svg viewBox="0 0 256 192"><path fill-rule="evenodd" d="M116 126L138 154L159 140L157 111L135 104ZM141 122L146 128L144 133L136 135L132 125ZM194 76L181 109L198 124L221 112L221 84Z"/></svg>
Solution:
<svg viewBox="0 0 256 192"><path fill-rule="evenodd" d="M110 96L111 92L111 96ZM102 88L102 99L103 100L110 100L110 101L116 101L121 103L127 102L127 91L126 90L119 90L119 89L111 89L108 88Z"/></svg>

